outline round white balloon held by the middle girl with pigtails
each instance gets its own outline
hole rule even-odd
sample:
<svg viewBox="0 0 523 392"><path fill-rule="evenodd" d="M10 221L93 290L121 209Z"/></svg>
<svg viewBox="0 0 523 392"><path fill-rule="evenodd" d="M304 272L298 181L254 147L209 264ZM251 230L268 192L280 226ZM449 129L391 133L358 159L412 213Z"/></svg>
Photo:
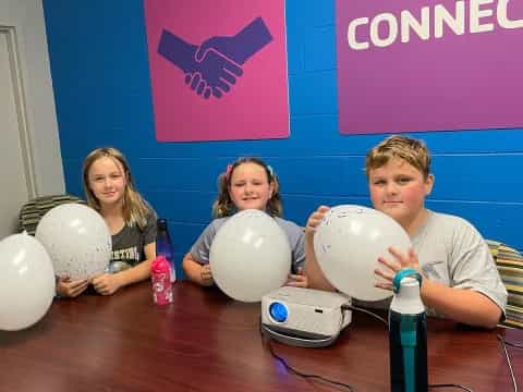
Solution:
<svg viewBox="0 0 523 392"><path fill-rule="evenodd" d="M235 213L218 230L209 260L212 279L227 295L258 302L285 283L291 247L273 218L247 209Z"/></svg>

